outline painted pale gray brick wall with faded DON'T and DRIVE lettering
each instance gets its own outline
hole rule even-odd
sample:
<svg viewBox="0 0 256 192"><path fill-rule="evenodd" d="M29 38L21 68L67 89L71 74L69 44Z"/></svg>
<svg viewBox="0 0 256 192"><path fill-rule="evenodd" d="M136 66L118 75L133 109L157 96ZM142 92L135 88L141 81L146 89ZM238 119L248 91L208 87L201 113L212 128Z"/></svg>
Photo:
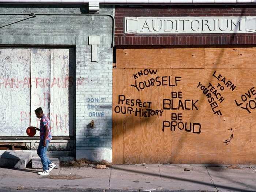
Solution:
<svg viewBox="0 0 256 192"><path fill-rule="evenodd" d="M30 18L0 29L0 44L75 46L76 158L111 161L112 153L112 19L109 16L51 16L88 13L85 5L1 5L0 13L30 13ZM114 14L110 6L101 14ZM0 26L29 17L0 15ZM91 62L89 36L100 36L98 61ZM40 47L40 46L39 46ZM95 121L95 127L88 124Z"/></svg>

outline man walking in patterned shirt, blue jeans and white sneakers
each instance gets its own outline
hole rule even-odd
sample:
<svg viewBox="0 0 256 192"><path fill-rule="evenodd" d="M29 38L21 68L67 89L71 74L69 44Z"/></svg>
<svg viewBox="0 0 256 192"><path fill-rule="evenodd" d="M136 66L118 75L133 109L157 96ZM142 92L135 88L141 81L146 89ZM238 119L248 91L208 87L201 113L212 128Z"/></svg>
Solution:
<svg viewBox="0 0 256 192"><path fill-rule="evenodd" d="M37 108L35 110L35 115L37 116L37 118L41 118L40 127L39 129L36 129L40 131L40 143L37 149L37 154L41 158L43 171L38 172L38 174L49 175L50 172L54 169L54 167L56 167L56 165L53 162L51 162L46 156L47 147L50 143L50 140L52 140L52 134L50 131L50 120L48 117L44 115L42 108Z"/></svg>

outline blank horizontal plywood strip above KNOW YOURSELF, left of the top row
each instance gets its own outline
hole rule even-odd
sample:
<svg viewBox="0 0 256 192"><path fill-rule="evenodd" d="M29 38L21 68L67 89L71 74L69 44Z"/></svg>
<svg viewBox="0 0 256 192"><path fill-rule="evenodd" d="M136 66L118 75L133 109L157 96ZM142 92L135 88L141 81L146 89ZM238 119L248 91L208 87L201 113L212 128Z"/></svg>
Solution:
<svg viewBox="0 0 256 192"><path fill-rule="evenodd" d="M117 68L204 68L204 48L117 49Z"/></svg>

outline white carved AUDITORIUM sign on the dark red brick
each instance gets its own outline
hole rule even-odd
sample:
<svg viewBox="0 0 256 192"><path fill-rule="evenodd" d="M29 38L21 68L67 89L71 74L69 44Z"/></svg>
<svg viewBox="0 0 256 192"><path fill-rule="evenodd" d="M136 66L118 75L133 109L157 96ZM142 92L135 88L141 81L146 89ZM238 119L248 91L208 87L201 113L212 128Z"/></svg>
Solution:
<svg viewBox="0 0 256 192"><path fill-rule="evenodd" d="M125 17L124 33L256 33L256 17Z"/></svg>

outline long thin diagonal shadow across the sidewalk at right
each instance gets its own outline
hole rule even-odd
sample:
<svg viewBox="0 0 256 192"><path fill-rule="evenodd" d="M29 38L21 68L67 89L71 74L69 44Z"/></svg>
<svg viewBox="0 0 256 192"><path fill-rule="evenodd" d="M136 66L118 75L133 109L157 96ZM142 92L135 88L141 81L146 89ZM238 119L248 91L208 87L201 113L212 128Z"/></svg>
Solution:
<svg viewBox="0 0 256 192"><path fill-rule="evenodd" d="M216 190L220 190L217 188L222 188L222 189L227 189L227 190L231 190L231 191L252 191L252 190L245 190L242 188L235 188L235 187L229 187L229 186L225 186L225 185L212 184L212 183L208 183L208 182L196 181L196 180L192 180L192 179L180 178L180 177L175 177L175 176L167 176L167 175L162 175L162 174L160 176L160 174L156 174L156 173L148 173L148 172L143 172L143 171L138 171L138 170L129 170L129 169L124 169L124 168L116 167L116 166L112 166L111 169L122 170L122 171L132 172L132 173L139 173L139 174L143 174L143 175L157 176L157 177L161 177L161 178L167 178L167 179L178 180L178 181L191 182L191 183L196 183L196 184L201 184L201 185L207 185L207 186L216 188ZM248 187L251 187L251 186L248 186Z"/></svg>

